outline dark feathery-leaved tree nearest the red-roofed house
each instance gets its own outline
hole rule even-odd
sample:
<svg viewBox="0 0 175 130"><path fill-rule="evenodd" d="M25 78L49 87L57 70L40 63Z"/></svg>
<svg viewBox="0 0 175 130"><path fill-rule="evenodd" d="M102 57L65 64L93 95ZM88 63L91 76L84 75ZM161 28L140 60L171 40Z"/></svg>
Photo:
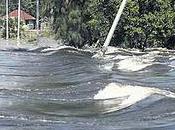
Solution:
<svg viewBox="0 0 175 130"><path fill-rule="evenodd" d="M43 6L43 14L53 16L53 29L57 38L75 47L81 47L84 42L81 35L84 2L83 0L43 1L43 4L47 5L47 7Z"/></svg>

